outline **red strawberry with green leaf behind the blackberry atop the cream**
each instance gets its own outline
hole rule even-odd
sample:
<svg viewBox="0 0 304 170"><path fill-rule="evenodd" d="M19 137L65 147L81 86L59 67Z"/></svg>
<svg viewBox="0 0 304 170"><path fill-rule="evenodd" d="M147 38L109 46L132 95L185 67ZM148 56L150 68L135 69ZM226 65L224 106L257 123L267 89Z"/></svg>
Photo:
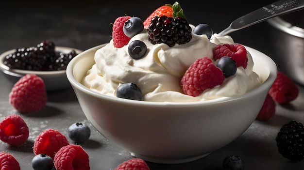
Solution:
<svg viewBox="0 0 304 170"><path fill-rule="evenodd" d="M178 2L175 2L173 5L166 4L159 8L157 8L145 21L144 21L144 28L148 29L151 20L155 16L163 16L166 15L167 17L177 17L180 16L184 19L186 19L186 16L184 15L184 12Z"/></svg>

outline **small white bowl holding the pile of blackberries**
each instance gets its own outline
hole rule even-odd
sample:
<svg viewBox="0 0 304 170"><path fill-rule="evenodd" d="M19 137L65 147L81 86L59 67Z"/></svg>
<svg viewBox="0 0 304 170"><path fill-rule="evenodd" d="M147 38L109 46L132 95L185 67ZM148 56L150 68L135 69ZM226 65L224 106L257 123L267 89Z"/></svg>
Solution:
<svg viewBox="0 0 304 170"><path fill-rule="evenodd" d="M71 50L75 50L77 54L82 52L82 50L80 49L55 46L55 51L57 52L60 51L60 52L68 53ZM47 91L56 91L70 87L70 83L68 82L67 79L66 70L30 71L30 70L21 70L21 69L10 69L3 62L7 55L12 54L15 51L16 49L11 49L0 54L0 70L2 71L2 73L4 73L5 77L12 83L16 83L21 77L27 74L35 74L43 79Z"/></svg>

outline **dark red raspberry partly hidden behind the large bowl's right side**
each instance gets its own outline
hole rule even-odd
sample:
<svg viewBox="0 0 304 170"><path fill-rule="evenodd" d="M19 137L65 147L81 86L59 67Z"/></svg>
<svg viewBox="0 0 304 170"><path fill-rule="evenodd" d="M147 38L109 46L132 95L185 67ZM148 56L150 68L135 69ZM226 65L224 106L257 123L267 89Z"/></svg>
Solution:
<svg viewBox="0 0 304 170"><path fill-rule="evenodd" d="M275 102L268 93L264 101L264 104L259 114L257 115L256 119L260 121L267 121L274 115L274 113L275 113Z"/></svg>

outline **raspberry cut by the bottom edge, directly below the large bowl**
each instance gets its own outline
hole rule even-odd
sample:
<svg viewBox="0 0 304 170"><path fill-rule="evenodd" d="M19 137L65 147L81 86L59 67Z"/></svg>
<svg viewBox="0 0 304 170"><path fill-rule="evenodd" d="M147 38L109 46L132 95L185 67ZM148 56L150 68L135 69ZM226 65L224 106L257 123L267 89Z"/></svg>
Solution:
<svg viewBox="0 0 304 170"><path fill-rule="evenodd" d="M150 170L146 162L140 158L124 161L115 170Z"/></svg>

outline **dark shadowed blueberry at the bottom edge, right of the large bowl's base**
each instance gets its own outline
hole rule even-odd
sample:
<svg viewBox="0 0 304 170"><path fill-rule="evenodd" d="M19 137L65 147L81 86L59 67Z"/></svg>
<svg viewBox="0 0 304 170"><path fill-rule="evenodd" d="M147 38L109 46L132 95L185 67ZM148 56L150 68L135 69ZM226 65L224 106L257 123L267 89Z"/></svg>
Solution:
<svg viewBox="0 0 304 170"><path fill-rule="evenodd" d="M224 170L244 170L243 160L236 155L228 156L223 161Z"/></svg>

